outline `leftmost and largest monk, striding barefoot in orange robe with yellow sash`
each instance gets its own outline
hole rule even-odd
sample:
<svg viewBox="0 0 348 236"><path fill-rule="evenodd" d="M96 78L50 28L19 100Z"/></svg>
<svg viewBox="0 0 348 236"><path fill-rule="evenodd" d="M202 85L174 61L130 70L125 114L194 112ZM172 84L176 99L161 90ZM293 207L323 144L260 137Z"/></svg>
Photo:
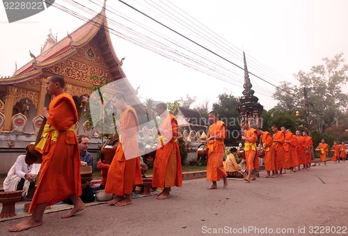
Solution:
<svg viewBox="0 0 348 236"><path fill-rule="evenodd" d="M84 210L85 205L79 196L81 191L81 159L79 142L74 132L78 121L77 109L72 97L64 92L65 81L61 75L47 78L46 89L54 96L49 109L42 110L47 118L43 138L35 150L42 154L38 187L36 187L29 219L10 228L10 231L22 231L42 224L42 216L47 205L70 198L74 207L62 218L72 217Z"/></svg>

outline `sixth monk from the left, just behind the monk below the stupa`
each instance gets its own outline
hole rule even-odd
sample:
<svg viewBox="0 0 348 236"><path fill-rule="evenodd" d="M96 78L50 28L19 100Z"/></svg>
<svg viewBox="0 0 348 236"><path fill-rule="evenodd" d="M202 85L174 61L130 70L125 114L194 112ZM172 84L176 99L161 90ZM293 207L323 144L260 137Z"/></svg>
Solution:
<svg viewBox="0 0 348 236"><path fill-rule="evenodd" d="M258 135L261 135L262 151L264 152L264 168L267 171L267 175L264 178L274 178L276 166L274 166L274 147L273 137L269 132L257 129ZM272 171L272 175L271 175Z"/></svg>

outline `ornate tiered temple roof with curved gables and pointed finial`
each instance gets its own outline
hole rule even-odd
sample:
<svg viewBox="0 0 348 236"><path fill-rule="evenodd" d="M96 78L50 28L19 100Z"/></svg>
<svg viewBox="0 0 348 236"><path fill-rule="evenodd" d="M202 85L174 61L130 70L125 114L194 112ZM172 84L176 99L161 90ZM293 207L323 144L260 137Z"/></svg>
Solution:
<svg viewBox="0 0 348 236"><path fill-rule="evenodd" d="M118 59L113 49L109 27L106 22L105 7L106 1L104 1L104 6L99 14L74 32L68 33L68 36L58 42L54 39L52 33L49 32L40 54L35 56L30 52L33 60L15 70L12 77L1 77L0 85L18 84L39 77L45 68L50 68L74 56L77 53L77 49L84 47L88 42L95 39L109 68L111 81L122 78L122 81L118 83L120 86L119 90L127 91L125 95L127 100L133 101L132 104L141 104L138 97L136 97L137 92L129 83L127 77L125 77L125 72L121 68L122 60Z"/></svg>

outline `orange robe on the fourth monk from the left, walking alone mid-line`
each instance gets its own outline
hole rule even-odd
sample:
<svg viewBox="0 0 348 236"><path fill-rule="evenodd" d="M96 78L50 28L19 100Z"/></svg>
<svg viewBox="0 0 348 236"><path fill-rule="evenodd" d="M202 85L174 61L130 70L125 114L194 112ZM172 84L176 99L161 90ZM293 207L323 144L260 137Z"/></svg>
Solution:
<svg viewBox="0 0 348 236"><path fill-rule="evenodd" d="M207 162L207 180L219 181L227 176L225 168L223 168L223 155L225 154L225 145L223 141L226 139L226 124L218 120L210 125L208 129L209 136L219 136L220 139L212 139L207 143L208 162Z"/></svg>

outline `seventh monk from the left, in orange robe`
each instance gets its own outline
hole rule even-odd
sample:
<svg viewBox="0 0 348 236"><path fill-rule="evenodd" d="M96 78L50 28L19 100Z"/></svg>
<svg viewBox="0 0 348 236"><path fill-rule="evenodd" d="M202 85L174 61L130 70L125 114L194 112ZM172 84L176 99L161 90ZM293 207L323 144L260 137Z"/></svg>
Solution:
<svg viewBox="0 0 348 236"><path fill-rule="evenodd" d="M278 127L276 125L272 125L271 127L273 131L273 145L274 150L276 153L275 166L276 166L276 175L282 176L282 170L285 168L285 151L284 151L284 141L285 141L285 135L283 132L278 130ZM279 171L279 173L278 173Z"/></svg>

